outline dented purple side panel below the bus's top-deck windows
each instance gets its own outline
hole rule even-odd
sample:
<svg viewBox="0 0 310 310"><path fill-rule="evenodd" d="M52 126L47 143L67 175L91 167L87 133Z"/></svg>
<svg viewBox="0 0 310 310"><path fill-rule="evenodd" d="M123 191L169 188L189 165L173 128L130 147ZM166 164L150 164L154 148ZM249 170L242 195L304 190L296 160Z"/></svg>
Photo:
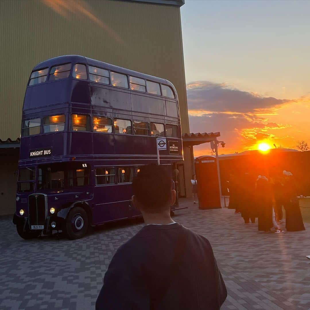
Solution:
<svg viewBox="0 0 310 310"><path fill-rule="evenodd" d="M131 110L130 93L123 90L111 90L90 86L91 89L91 104L102 107Z"/></svg>

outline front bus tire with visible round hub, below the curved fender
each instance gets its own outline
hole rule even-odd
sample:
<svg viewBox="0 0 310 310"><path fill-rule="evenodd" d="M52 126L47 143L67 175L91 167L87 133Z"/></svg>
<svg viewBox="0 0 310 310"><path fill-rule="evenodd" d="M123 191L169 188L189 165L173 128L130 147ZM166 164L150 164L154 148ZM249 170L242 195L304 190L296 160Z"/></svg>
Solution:
<svg viewBox="0 0 310 310"><path fill-rule="evenodd" d="M88 229L88 216L81 207L70 210L65 224L67 238L70 240L80 239L86 235Z"/></svg>

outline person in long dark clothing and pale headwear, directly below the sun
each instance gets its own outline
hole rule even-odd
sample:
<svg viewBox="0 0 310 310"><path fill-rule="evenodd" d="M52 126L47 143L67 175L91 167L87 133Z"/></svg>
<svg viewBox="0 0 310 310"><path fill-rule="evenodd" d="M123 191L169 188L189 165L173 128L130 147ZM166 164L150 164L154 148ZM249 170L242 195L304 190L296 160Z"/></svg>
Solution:
<svg viewBox="0 0 310 310"><path fill-rule="evenodd" d="M256 206L258 208L258 230L269 232L272 228L272 188L264 175L256 180Z"/></svg>

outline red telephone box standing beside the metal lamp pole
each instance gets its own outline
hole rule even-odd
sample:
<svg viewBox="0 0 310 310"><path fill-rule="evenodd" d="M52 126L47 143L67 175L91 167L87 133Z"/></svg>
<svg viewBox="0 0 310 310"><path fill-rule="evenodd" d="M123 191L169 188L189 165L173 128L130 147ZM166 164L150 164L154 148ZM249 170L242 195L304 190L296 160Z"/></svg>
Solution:
<svg viewBox="0 0 310 310"><path fill-rule="evenodd" d="M216 158L199 156L195 160L199 209L221 208Z"/></svg>

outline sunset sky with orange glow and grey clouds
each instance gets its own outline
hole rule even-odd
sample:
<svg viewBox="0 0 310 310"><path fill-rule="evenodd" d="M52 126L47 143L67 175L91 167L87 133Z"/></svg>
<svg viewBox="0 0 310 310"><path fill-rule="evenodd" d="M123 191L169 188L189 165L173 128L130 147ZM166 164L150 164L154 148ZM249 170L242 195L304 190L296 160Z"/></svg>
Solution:
<svg viewBox="0 0 310 310"><path fill-rule="evenodd" d="M220 131L220 154L310 142L309 11L309 1L185 1L191 132Z"/></svg>

